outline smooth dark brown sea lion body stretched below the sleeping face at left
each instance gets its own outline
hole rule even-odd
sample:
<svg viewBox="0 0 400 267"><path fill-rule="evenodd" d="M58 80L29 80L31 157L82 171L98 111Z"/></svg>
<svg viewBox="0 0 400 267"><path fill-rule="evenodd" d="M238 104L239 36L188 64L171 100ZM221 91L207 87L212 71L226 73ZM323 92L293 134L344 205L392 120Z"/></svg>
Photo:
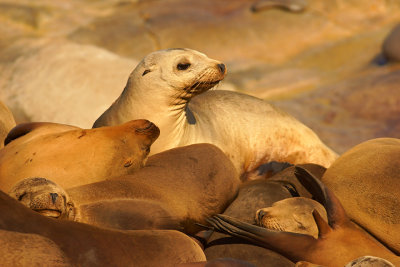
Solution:
<svg viewBox="0 0 400 267"><path fill-rule="evenodd" d="M24 207L1 191L0 210L0 229L50 239L72 266L173 267L206 260L195 241L174 230L118 231L54 220Z"/></svg>

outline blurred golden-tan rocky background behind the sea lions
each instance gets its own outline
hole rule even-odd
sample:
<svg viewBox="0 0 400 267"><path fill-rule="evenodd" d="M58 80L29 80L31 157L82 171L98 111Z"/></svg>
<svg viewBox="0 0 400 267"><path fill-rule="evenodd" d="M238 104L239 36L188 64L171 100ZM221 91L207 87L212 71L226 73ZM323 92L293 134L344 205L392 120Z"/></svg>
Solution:
<svg viewBox="0 0 400 267"><path fill-rule="evenodd" d="M91 127L145 55L188 47L342 153L400 138L399 22L398 0L0 0L0 101Z"/></svg>

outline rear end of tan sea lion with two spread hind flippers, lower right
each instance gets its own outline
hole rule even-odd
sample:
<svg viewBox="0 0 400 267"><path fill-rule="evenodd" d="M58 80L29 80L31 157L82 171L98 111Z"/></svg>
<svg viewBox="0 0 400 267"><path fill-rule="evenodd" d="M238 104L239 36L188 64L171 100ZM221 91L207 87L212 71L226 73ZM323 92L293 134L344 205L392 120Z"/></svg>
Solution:
<svg viewBox="0 0 400 267"><path fill-rule="evenodd" d="M327 211L328 223L314 210L318 239L309 235L265 229L226 215L208 221L217 231L241 237L273 249L294 262L307 261L325 266L344 266L348 262L371 255L400 263L400 257L354 224L347 217L336 196L307 170L296 167L296 176Z"/></svg>

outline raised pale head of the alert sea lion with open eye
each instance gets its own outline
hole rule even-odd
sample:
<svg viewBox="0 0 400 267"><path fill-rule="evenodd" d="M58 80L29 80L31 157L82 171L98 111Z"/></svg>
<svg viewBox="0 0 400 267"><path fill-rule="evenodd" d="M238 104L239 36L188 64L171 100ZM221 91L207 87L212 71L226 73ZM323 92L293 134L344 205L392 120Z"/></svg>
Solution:
<svg viewBox="0 0 400 267"><path fill-rule="evenodd" d="M147 55L129 77L127 88L158 90L187 102L217 85L226 74L223 63L188 48L160 50ZM172 89L167 92L168 89ZM160 90L163 90L162 92Z"/></svg>

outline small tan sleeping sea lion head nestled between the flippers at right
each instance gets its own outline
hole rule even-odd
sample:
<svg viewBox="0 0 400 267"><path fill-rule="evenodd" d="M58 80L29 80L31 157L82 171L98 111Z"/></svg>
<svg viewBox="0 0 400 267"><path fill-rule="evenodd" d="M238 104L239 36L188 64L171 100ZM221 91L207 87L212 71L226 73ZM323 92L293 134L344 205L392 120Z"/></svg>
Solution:
<svg viewBox="0 0 400 267"><path fill-rule="evenodd" d="M272 207L259 209L255 221L259 226L271 230L308 234L318 238L313 210L318 211L328 221L324 207L317 201L304 197L282 199Z"/></svg>

